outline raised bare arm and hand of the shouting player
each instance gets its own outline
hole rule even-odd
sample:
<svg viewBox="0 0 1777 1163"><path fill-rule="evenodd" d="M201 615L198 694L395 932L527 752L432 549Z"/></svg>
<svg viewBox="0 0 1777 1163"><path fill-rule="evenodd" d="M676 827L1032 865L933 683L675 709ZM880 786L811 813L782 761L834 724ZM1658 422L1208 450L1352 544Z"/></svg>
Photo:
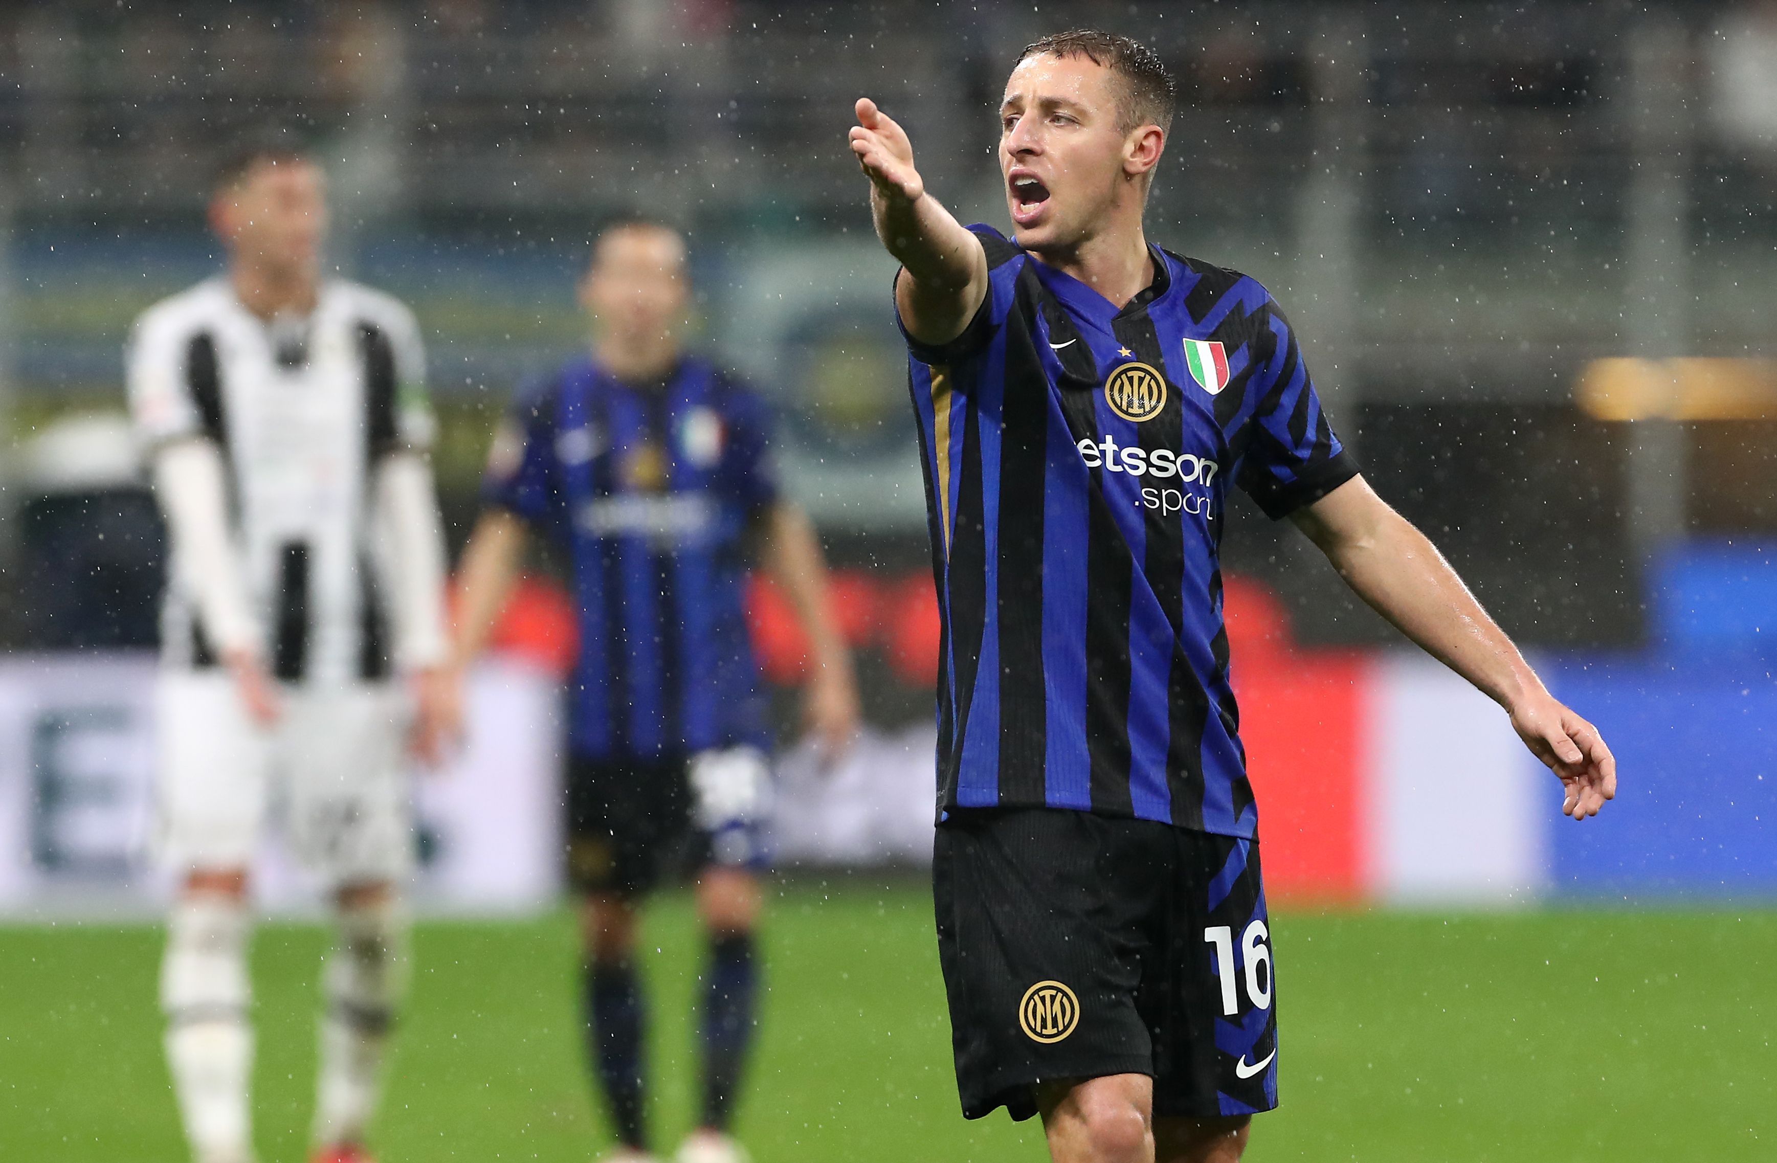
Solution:
<svg viewBox="0 0 1777 1163"><path fill-rule="evenodd" d="M933 346L963 334L988 293L988 257L970 234L926 192L913 169L913 144L869 98L857 105L851 153L871 179L871 217L888 254L901 259L896 305L901 321Z"/></svg>

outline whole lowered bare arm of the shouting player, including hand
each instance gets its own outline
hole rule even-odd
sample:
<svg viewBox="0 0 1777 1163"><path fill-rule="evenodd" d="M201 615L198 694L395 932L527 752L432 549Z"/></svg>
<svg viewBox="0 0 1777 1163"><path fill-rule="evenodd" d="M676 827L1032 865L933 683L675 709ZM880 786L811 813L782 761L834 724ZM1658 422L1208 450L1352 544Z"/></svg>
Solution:
<svg viewBox="0 0 1777 1163"><path fill-rule="evenodd" d="M1358 597L1505 708L1518 737L1566 787L1564 813L1583 820L1615 797L1617 760L1598 728L1548 692L1450 563L1361 476L1294 520Z"/></svg>

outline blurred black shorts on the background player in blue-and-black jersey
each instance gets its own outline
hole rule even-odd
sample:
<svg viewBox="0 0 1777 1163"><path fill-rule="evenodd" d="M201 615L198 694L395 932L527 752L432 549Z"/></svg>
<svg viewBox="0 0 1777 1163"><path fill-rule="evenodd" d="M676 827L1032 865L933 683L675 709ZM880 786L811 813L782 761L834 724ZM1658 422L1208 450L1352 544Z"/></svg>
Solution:
<svg viewBox="0 0 1777 1163"><path fill-rule="evenodd" d="M759 868L757 827L697 822L691 758L567 760L567 879L579 893L640 897L711 865Z"/></svg>

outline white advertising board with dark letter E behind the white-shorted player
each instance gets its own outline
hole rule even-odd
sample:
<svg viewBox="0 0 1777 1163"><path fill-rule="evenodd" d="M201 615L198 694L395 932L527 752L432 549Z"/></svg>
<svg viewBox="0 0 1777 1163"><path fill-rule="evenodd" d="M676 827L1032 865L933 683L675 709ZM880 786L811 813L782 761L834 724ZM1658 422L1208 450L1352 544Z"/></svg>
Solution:
<svg viewBox="0 0 1777 1163"><path fill-rule="evenodd" d="M146 913L165 897L149 852L155 671L144 653L0 661L0 913ZM471 676L466 749L414 779L423 909L524 911L556 898L556 691L515 662ZM265 907L315 906L275 826L254 874Z"/></svg>

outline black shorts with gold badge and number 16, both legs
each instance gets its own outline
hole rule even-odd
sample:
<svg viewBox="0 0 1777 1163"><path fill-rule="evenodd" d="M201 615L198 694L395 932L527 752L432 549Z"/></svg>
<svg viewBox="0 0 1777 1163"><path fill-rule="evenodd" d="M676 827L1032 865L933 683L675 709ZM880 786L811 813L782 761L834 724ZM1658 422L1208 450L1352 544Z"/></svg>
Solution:
<svg viewBox="0 0 1777 1163"><path fill-rule="evenodd" d="M951 811L933 854L963 1115L1153 1078L1160 1117L1278 1104L1258 843L1050 808Z"/></svg>

